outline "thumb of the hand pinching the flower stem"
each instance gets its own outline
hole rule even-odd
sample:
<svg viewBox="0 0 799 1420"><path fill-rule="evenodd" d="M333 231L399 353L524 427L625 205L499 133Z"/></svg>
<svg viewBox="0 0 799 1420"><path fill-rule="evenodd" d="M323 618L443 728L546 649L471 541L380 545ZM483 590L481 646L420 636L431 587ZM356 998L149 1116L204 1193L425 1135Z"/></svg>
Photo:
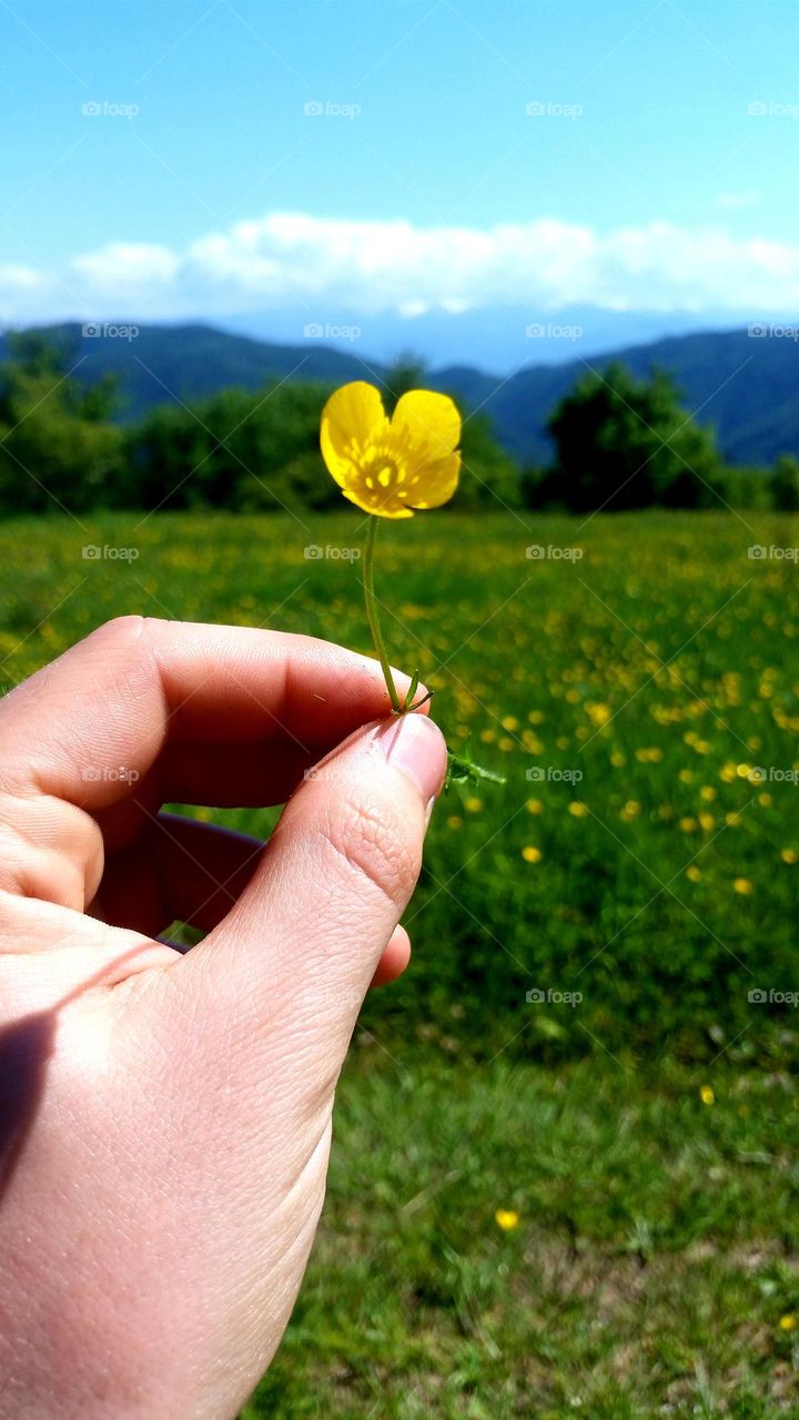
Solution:
<svg viewBox="0 0 799 1420"><path fill-rule="evenodd" d="M444 737L422 714L357 731L309 771L242 897L178 964L227 1049L240 1030L250 1061L260 1038L283 1069L321 1051L338 1074L445 771Z"/></svg>

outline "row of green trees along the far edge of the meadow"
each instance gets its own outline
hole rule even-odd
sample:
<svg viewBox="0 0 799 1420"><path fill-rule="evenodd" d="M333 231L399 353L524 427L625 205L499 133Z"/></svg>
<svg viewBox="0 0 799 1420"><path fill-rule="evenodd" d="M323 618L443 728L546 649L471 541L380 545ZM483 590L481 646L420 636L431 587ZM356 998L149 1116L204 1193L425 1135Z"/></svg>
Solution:
<svg viewBox="0 0 799 1420"><path fill-rule="evenodd" d="M387 409L424 379L412 359L398 362L387 379ZM70 373L70 352L47 337L10 337L0 364L0 515L58 507L337 508L340 494L318 453L328 393L318 383L274 381L191 406L158 405L125 425L111 376L85 386ZM611 364L579 381L547 420L549 467L519 467L485 413L463 413L454 506L465 511L799 510L799 460L786 452L772 470L725 466L712 429L687 413L663 371L637 379Z"/></svg>

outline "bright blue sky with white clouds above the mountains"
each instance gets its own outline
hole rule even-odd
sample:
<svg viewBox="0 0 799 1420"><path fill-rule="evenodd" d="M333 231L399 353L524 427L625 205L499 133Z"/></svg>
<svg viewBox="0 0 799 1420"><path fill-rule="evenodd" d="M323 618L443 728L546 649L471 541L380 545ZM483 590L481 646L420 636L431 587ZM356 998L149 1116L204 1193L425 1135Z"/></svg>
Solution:
<svg viewBox="0 0 799 1420"><path fill-rule="evenodd" d="M0 320L795 311L798 53L796 0L0 0Z"/></svg>

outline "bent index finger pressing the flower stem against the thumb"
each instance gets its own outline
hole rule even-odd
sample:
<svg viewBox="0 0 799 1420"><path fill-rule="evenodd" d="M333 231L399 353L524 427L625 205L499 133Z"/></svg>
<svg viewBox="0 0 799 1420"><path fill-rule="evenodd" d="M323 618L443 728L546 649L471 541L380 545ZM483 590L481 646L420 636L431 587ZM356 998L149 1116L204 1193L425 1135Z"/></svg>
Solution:
<svg viewBox="0 0 799 1420"><path fill-rule="evenodd" d="M400 693L408 677L395 672ZM122 616L0 703L0 784L87 808L129 792L166 744L340 743L391 710L377 662L310 636Z"/></svg>

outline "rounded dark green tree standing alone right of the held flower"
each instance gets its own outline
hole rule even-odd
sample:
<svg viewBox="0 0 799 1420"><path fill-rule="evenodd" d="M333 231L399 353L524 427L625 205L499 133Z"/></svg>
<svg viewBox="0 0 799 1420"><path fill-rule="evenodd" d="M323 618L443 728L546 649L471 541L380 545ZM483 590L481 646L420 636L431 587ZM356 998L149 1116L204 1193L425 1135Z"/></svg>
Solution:
<svg viewBox="0 0 799 1420"><path fill-rule="evenodd" d="M587 375L556 406L547 429L556 446L547 493L557 487L569 508L717 503L721 459L714 435L685 413L664 371L640 381L613 364L603 375Z"/></svg>

